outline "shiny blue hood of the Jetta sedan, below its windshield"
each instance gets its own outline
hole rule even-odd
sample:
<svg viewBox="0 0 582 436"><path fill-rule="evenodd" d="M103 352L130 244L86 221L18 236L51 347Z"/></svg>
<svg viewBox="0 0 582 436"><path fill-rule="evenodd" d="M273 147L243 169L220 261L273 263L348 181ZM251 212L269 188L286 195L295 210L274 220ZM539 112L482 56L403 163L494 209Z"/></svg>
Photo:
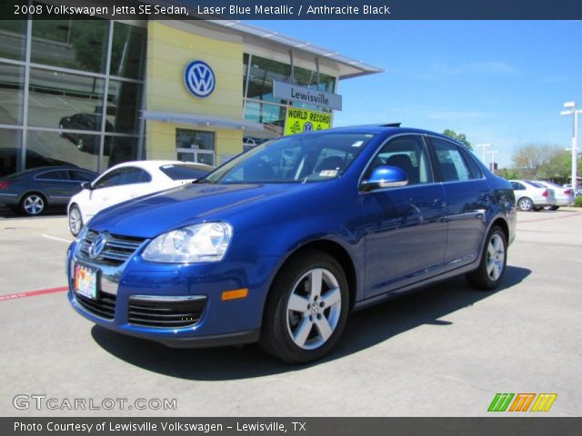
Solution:
<svg viewBox="0 0 582 436"><path fill-rule="evenodd" d="M192 223L227 220L318 184L189 184L116 204L97 213L88 226L96 232L152 238Z"/></svg>

